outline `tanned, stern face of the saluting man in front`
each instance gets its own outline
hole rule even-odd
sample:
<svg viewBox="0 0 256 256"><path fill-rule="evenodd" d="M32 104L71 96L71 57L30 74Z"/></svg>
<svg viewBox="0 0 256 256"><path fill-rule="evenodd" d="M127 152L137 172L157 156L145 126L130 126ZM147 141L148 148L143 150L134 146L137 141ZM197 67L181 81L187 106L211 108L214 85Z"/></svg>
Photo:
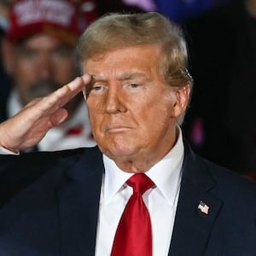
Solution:
<svg viewBox="0 0 256 256"><path fill-rule="evenodd" d="M113 160L160 160L176 141L176 119L184 108L179 90L160 75L159 55L157 45L134 46L84 63L92 76L86 88L92 131Z"/></svg>

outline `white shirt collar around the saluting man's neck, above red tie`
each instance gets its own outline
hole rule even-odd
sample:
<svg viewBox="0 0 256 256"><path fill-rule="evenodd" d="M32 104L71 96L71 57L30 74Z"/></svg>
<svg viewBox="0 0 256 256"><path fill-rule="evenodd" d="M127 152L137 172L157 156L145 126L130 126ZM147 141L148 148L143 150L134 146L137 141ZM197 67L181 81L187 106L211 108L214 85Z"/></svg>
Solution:
<svg viewBox="0 0 256 256"><path fill-rule="evenodd" d="M173 205L179 191L184 156L182 131L180 127L177 127L177 130L177 143L163 159L152 166L146 173L170 205ZM102 196L104 202L108 202L113 198L113 195L124 187L126 180L133 173L123 172L113 160L104 154L103 162L105 177L102 183Z"/></svg>

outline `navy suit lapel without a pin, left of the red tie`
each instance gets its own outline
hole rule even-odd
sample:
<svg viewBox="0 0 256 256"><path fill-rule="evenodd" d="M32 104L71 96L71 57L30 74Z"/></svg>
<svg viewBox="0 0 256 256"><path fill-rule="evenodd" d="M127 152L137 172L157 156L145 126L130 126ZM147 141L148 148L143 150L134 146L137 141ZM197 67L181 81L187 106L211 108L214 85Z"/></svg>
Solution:
<svg viewBox="0 0 256 256"><path fill-rule="evenodd" d="M96 157L85 154L57 190L62 256L95 255L103 163L98 151Z"/></svg>

